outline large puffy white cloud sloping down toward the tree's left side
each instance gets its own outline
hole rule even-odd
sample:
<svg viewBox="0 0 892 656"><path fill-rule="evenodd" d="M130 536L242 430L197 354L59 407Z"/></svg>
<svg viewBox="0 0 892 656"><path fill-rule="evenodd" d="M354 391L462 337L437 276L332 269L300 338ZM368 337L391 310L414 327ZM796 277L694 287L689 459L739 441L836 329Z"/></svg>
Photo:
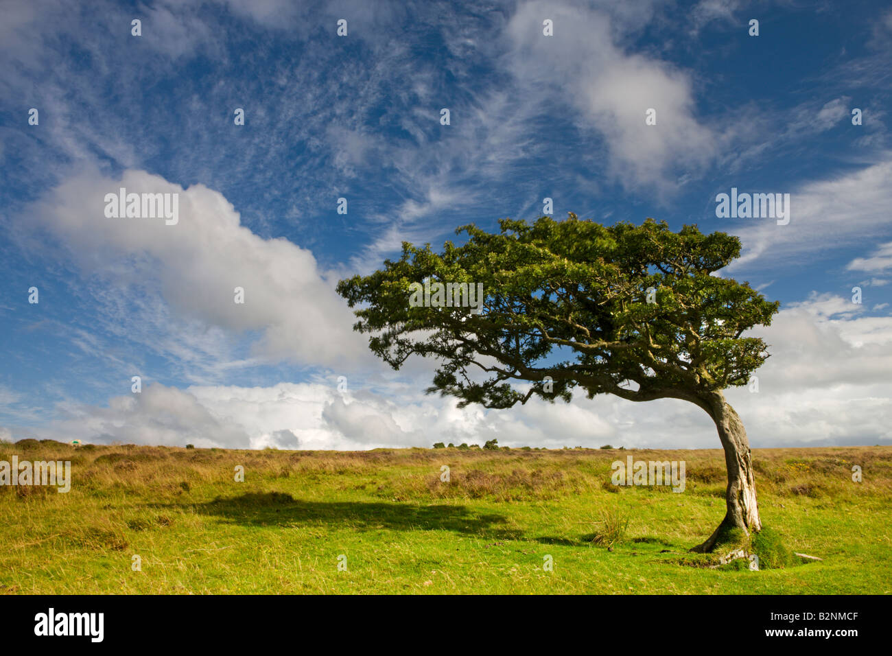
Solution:
<svg viewBox="0 0 892 656"><path fill-rule="evenodd" d="M104 196L120 187L178 194L178 223L105 217ZM124 284L113 274L126 262L128 278L156 280L180 315L259 334L256 351L271 360L329 366L367 353L335 280L319 270L313 254L285 238L255 235L208 187L184 189L141 170L127 170L120 180L87 171L56 187L35 213L85 273ZM235 303L235 287L244 289L244 304Z"/></svg>

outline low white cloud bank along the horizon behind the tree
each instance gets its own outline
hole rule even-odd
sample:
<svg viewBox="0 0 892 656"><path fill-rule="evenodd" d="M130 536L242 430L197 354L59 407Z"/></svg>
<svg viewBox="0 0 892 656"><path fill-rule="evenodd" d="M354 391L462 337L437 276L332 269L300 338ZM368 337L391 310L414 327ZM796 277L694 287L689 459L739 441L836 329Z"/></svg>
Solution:
<svg viewBox="0 0 892 656"><path fill-rule="evenodd" d="M749 387L726 395L754 447L892 443L892 317L863 316L836 295L813 294L761 328L772 357ZM712 420L673 399L632 403L613 396L570 404L533 400L487 411L425 395L427 380L352 381L268 387L154 384L142 394L81 406L38 431L87 442L238 448L370 449L434 442L503 446L719 448ZM755 387L754 387L755 388Z"/></svg>

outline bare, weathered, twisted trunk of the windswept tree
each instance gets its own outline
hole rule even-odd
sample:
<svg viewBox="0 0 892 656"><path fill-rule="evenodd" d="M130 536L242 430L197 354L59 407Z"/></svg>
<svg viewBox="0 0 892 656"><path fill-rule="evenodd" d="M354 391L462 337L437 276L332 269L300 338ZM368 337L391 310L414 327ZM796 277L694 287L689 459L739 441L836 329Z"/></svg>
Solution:
<svg viewBox="0 0 892 656"><path fill-rule="evenodd" d="M756 503L756 480L753 477L753 461L749 452L747 431L737 412L727 403L721 392L701 397L703 407L715 422L725 453L728 469L728 490L725 494L727 512L712 536L691 551L711 552L723 542L732 528L742 529L745 535L762 529L759 507Z"/></svg>

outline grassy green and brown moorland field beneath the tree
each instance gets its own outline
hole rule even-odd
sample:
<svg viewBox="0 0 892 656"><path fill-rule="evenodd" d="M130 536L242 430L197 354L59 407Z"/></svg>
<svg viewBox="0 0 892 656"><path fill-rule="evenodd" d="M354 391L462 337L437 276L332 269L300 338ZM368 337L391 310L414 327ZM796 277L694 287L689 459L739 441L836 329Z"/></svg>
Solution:
<svg viewBox="0 0 892 656"><path fill-rule="evenodd" d="M723 518L720 450L0 443L12 455L71 461L72 483L0 486L5 594L892 592L889 446L755 450L765 527L823 559L760 571L688 552ZM611 485L628 455L685 461L685 491Z"/></svg>

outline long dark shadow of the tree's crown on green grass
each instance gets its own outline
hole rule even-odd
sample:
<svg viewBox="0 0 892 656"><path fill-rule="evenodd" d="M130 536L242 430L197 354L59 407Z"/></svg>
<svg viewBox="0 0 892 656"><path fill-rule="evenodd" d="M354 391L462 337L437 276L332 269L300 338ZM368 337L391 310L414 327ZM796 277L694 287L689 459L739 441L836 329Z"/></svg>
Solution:
<svg viewBox="0 0 892 656"><path fill-rule="evenodd" d="M218 497L212 502L173 504L231 524L297 527L330 524L353 530L445 530L501 539L519 532L504 527L504 515L476 514L465 506L417 506L409 503L318 502L279 492ZM165 506L170 508L171 506Z"/></svg>

